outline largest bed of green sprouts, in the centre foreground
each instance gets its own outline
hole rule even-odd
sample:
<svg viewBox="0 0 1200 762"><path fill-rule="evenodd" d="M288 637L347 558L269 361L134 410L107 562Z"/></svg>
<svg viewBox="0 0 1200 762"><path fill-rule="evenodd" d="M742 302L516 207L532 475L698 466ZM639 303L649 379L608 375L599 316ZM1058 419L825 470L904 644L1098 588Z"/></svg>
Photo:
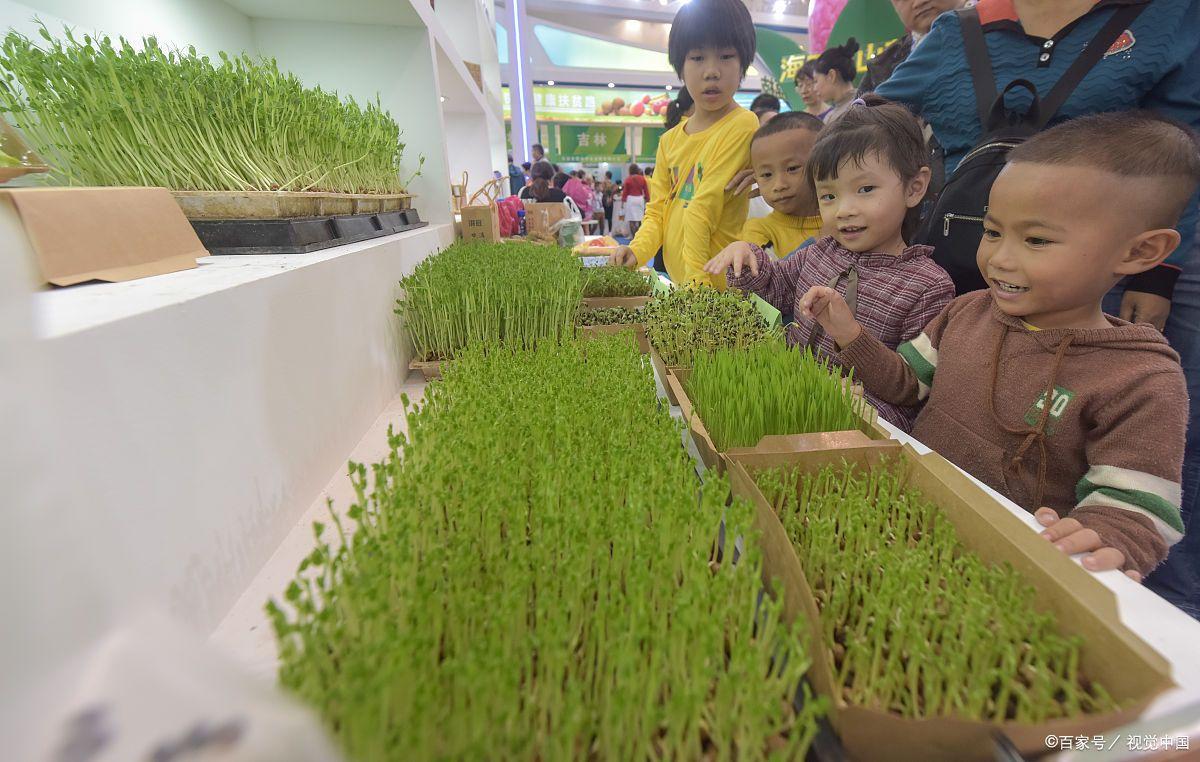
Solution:
<svg viewBox="0 0 1200 762"><path fill-rule="evenodd" d="M347 758L804 758L823 702L791 706L752 510L697 481L628 337L470 344L407 421L268 605ZM722 517L746 550L714 569Z"/></svg>

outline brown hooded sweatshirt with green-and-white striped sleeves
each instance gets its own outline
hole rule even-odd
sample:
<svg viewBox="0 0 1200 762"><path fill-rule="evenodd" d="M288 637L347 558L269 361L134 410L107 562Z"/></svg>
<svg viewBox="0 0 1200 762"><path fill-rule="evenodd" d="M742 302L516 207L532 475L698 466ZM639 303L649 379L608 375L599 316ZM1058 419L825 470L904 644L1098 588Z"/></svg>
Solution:
<svg viewBox="0 0 1200 762"><path fill-rule="evenodd" d="M1109 323L1031 331L974 292L898 352L863 331L840 358L893 404L928 398L922 443L1028 511L1069 514L1148 574L1183 536L1187 388L1162 334Z"/></svg>

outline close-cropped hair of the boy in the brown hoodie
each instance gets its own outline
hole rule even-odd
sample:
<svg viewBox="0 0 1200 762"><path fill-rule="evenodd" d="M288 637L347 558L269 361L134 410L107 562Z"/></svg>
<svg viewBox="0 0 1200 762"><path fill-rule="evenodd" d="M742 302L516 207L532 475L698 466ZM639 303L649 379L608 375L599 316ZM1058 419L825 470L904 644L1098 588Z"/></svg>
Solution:
<svg viewBox="0 0 1200 762"><path fill-rule="evenodd" d="M1156 178L1153 227L1175 226L1200 185L1200 138L1151 112L1090 114L1039 132L1009 162L1091 167L1121 178Z"/></svg>

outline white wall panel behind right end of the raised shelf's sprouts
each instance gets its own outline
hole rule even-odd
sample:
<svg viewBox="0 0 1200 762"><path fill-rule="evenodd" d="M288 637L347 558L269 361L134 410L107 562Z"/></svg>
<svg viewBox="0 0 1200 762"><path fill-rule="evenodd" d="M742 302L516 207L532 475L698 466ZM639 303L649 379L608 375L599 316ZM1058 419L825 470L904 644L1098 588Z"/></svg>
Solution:
<svg viewBox="0 0 1200 762"><path fill-rule="evenodd" d="M378 92L403 130L406 170L415 170L418 157L425 156L421 176L410 186L418 210L433 222L450 221L444 126L437 89L428 86L437 72L425 29L268 19L254 19L252 26L258 52L275 56L305 83L360 101Z"/></svg>

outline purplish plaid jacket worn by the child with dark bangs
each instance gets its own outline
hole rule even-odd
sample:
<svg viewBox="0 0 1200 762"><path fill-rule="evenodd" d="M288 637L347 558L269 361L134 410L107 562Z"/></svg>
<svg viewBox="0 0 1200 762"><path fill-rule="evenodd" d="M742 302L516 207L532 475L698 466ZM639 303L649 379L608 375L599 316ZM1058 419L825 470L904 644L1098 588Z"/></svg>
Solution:
<svg viewBox="0 0 1200 762"><path fill-rule="evenodd" d="M946 270L930 258L929 246L910 246L900 256L859 254L826 236L776 260L752 246L758 260L758 275L749 269L736 277L731 268L728 284L752 292L796 322L787 326L787 343L793 347L814 344L817 355L839 364L833 340L811 318L800 316L799 302L809 288L833 283L842 296L850 288L850 274L857 278L854 318L895 349L920 332L954 299L954 282ZM866 400L884 420L904 431L912 430L917 408L890 404L866 390Z"/></svg>

